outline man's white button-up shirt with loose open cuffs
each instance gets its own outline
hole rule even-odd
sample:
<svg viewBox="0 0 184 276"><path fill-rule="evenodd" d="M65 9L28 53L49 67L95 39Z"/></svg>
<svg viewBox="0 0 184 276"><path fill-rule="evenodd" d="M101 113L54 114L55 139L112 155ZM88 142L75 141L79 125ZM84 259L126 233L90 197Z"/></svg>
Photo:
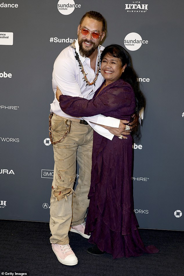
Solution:
<svg viewBox="0 0 184 276"><path fill-rule="evenodd" d="M84 71L85 73L87 73L87 79L89 80L89 82L92 82L95 78L95 74L97 71L98 58L100 58L100 50L103 50L104 47L100 46L100 49L98 47L98 56L96 60L95 72L90 66L90 58L82 57L80 55L78 39L75 42L75 47L76 52L78 53L79 58L84 67ZM56 86L58 86L59 89L62 91L63 95L81 97L90 100L91 98L93 98L95 91L100 87L103 80L104 79L101 73L99 73L97 81L95 82L95 86L86 86L86 82L83 79L83 74L81 72L79 63L75 59L75 50L70 46L62 50L62 52L55 60L52 76L52 86L54 94L56 94ZM76 118L62 111L62 109L59 106L59 102L56 99L56 96L54 98L53 103L50 104L50 112L54 112L55 114L62 117ZM81 118L77 117L77 119ZM111 134L107 129L104 129L99 125L119 127L120 124L119 119L106 117L102 114L91 117L83 117L83 119L86 120L96 132L110 140L112 140L114 135ZM91 122L97 123L99 125L95 125Z"/></svg>

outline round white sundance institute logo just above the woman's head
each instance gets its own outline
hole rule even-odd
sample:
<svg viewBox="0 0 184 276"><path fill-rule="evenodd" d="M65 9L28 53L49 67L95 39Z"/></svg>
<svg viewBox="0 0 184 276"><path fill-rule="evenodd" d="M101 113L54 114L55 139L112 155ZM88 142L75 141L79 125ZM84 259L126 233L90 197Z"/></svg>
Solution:
<svg viewBox="0 0 184 276"><path fill-rule="evenodd" d="M148 44L148 40L142 40L142 37L137 33L129 33L124 39L124 44L128 50L136 51L142 44Z"/></svg>

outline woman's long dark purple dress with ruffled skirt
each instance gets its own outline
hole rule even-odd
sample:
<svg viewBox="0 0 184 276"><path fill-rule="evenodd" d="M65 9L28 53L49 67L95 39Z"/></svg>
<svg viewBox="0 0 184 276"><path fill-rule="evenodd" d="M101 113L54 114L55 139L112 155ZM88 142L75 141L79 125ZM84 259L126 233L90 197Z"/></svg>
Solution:
<svg viewBox="0 0 184 276"><path fill-rule="evenodd" d="M120 79L98 94L99 90L91 100L63 95L60 107L71 116L101 113L130 121L136 106L131 86ZM132 137L127 138L121 140L114 136L111 141L95 131L93 134L90 203L85 233L91 233L90 243L111 253L114 259L158 252L154 246L145 248L137 229L131 180Z"/></svg>

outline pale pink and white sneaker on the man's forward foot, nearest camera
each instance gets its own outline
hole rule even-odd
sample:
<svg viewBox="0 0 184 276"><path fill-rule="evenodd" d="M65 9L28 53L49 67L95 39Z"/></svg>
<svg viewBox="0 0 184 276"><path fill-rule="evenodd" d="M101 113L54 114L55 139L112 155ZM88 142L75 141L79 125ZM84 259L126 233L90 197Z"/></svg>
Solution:
<svg viewBox="0 0 184 276"><path fill-rule="evenodd" d="M75 264L78 263L77 257L69 244L62 245L52 243L52 249L60 263L65 264L66 266L75 266Z"/></svg>

